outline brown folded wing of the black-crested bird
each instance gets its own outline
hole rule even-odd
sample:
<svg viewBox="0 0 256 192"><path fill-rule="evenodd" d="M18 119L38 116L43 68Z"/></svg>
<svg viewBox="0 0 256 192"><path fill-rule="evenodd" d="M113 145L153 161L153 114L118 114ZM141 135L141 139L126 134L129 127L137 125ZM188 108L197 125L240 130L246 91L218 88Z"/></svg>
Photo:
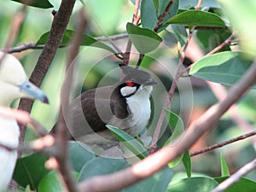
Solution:
<svg viewBox="0 0 256 192"><path fill-rule="evenodd" d="M105 87L106 88L106 87ZM67 127L73 137L106 130L111 119L111 89L87 90L69 105Z"/></svg>

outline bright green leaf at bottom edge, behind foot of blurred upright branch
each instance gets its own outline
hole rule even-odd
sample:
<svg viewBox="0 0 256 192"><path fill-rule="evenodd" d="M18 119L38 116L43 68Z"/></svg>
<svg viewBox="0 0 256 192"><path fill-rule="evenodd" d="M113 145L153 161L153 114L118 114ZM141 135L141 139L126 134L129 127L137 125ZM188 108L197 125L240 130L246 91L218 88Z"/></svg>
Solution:
<svg viewBox="0 0 256 192"><path fill-rule="evenodd" d="M73 172L73 177L78 178L79 173ZM45 175L38 185L38 192L61 192L65 187L58 172L51 171Z"/></svg>

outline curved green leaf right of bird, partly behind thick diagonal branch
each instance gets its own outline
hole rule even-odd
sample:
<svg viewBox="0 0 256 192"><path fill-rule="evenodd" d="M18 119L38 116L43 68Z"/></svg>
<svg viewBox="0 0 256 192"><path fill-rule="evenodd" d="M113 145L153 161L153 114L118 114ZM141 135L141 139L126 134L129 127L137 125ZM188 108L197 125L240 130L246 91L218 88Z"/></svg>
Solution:
<svg viewBox="0 0 256 192"><path fill-rule="evenodd" d="M171 111L165 109L166 116L168 118L169 126L172 131L172 136L166 141L165 145L170 144L173 140L175 140L177 137L179 137L181 134L183 134L184 131L184 125L183 125L183 120L180 119L177 114L172 113ZM177 166L177 164L183 160L183 154L177 157L177 159L172 160L168 164L169 167Z"/></svg>

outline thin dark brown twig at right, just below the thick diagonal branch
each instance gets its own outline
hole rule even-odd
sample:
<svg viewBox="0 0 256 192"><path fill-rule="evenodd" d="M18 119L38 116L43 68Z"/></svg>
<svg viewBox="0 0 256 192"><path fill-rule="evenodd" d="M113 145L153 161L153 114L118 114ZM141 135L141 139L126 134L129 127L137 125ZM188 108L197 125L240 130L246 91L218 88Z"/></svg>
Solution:
<svg viewBox="0 0 256 192"><path fill-rule="evenodd" d="M244 135L241 135L239 137L235 137L235 138L232 138L230 140L227 140L227 141L224 141L224 142L221 142L221 143L217 143L217 144L214 144L212 146L209 146L207 148L201 148L200 150L197 150L197 151L194 151L194 152L191 152L190 153L190 156L195 156L197 154L203 154L203 153L206 153L207 151L211 151L215 148L221 148L225 145L228 145L230 143L235 143L237 141L240 141L242 139L246 139L247 137L253 137L256 135L256 131L251 131L251 132L248 132L247 134L244 134Z"/></svg>

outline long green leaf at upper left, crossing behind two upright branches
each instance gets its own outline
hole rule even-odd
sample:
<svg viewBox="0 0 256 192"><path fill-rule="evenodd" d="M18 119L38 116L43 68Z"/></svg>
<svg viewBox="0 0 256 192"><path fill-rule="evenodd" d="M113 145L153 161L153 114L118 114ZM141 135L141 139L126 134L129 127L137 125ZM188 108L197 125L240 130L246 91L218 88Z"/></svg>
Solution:
<svg viewBox="0 0 256 192"><path fill-rule="evenodd" d="M72 40L74 31L73 30L66 30L64 33L64 36L61 41L61 46L67 46L67 44ZM45 44L47 41L47 38L49 37L49 32L45 32L39 39L36 45L38 44ZM82 46L90 46L90 47L96 47L101 49L109 50L112 53L115 53L115 50L109 47L107 44L103 44L100 41L97 41L95 38L90 37L89 35L84 35L81 44Z"/></svg>

